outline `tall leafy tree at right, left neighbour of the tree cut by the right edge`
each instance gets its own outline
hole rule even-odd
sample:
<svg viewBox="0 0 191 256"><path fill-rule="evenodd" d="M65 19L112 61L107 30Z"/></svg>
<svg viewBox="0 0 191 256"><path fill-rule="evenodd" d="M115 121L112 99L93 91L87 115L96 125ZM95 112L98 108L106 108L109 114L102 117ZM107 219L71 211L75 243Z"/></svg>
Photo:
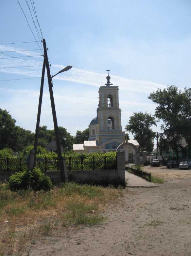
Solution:
<svg viewBox="0 0 191 256"><path fill-rule="evenodd" d="M168 139L169 145L176 157L179 158L181 146L181 124L179 110L181 106L181 92L176 86L168 86L167 89L157 89L148 97L157 103L155 116L163 121L161 129L164 136Z"/></svg>

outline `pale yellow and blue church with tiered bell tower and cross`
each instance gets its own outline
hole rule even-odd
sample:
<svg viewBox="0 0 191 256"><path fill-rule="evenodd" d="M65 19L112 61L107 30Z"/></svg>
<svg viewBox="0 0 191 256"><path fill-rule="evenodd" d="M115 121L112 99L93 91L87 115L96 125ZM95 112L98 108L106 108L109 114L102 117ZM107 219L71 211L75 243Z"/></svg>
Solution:
<svg viewBox="0 0 191 256"><path fill-rule="evenodd" d="M109 73L106 79L107 83L98 91L97 116L89 124L89 139L84 141L84 144L73 144L73 151L76 153L116 151L117 147L125 142L125 132L121 127L119 87L110 83ZM139 147L136 140L128 140L128 142ZM128 148L128 158L133 155L133 148Z"/></svg>

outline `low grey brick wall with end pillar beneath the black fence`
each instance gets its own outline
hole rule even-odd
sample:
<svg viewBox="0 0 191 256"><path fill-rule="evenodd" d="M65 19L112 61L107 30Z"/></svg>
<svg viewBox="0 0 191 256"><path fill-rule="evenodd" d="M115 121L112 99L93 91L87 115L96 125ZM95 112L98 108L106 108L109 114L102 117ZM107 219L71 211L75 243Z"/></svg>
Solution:
<svg viewBox="0 0 191 256"><path fill-rule="evenodd" d="M0 181L9 179L14 172L0 172ZM60 182L58 171L48 171L46 175L53 183ZM91 184L125 184L125 153L117 153L117 170L68 171L68 181Z"/></svg>

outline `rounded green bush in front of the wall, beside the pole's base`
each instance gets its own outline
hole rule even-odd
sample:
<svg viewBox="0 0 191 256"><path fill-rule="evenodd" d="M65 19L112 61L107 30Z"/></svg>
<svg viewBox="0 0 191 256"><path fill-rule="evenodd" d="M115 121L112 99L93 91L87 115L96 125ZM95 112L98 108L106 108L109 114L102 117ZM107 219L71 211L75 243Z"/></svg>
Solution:
<svg viewBox="0 0 191 256"><path fill-rule="evenodd" d="M32 171L22 171L11 175L8 185L14 191L29 188L34 191L47 191L52 188L50 177L46 176L37 168L34 168Z"/></svg>

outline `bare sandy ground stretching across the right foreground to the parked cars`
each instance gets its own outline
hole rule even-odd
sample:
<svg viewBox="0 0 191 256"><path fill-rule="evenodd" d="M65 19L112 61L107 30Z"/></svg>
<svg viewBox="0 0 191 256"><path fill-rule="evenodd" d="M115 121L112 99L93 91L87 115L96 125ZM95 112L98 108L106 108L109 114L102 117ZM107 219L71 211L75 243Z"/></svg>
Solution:
<svg viewBox="0 0 191 256"><path fill-rule="evenodd" d="M63 230L22 255L191 256L191 170L151 169L166 182L127 188L117 207L108 205L105 223Z"/></svg>

